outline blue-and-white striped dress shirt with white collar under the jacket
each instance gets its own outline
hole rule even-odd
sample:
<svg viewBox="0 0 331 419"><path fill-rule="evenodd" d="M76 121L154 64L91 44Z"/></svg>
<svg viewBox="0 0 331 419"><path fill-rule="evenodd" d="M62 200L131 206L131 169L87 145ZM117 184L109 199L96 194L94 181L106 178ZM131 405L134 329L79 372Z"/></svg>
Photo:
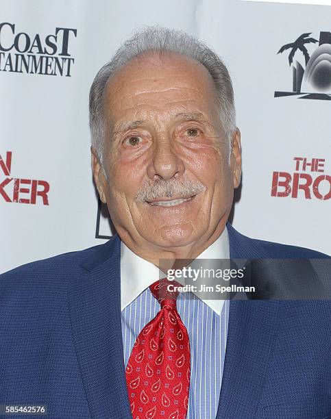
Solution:
<svg viewBox="0 0 331 419"><path fill-rule="evenodd" d="M225 230L197 259L229 259L228 231ZM141 329L152 320L160 304L149 285L160 278L156 266L138 257L121 242L121 309L124 363ZM191 346L191 382L188 419L214 419L217 414L226 338L228 300L201 300L193 292L181 292L177 311L188 331Z"/></svg>

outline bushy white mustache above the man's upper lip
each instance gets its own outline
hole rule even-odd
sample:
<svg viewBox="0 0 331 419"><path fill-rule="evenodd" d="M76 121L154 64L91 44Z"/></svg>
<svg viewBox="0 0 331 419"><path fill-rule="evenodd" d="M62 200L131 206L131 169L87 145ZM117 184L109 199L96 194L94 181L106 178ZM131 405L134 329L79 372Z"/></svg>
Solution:
<svg viewBox="0 0 331 419"><path fill-rule="evenodd" d="M189 198L204 190L206 190L206 186L200 182L191 181L191 179L146 181L142 188L138 190L136 201L149 202L163 196L167 196L167 198L173 198L173 196Z"/></svg>

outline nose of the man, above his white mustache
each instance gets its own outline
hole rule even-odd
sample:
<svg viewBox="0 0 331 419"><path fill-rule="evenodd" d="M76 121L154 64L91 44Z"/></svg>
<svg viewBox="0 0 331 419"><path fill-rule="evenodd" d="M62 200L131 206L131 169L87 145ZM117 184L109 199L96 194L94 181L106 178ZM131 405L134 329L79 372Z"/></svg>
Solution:
<svg viewBox="0 0 331 419"><path fill-rule="evenodd" d="M184 173L184 164L172 147L170 138L156 141L153 156L147 167L150 179L171 179Z"/></svg>

